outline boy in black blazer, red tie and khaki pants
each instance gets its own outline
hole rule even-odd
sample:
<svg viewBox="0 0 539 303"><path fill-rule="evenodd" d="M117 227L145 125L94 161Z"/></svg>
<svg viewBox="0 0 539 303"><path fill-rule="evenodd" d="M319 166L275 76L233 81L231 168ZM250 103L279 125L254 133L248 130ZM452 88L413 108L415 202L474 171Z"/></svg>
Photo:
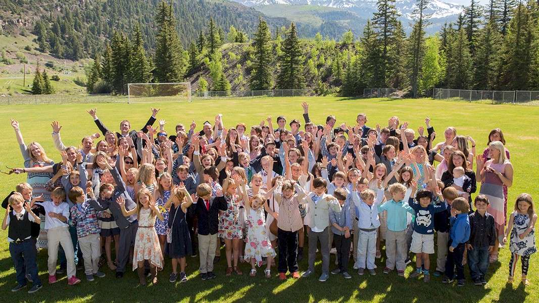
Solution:
<svg viewBox="0 0 539 303"><path fill-rule="evenodd" d="M196 214L198 215L198 254L200 256L200 271L202 280L213 279L213 258L217 249L217 231L219 229L219 210L226 210L227 204L223 197L223 190L216 191L212 196L212 188L208 183L197 187L198 201Z"/></svg>

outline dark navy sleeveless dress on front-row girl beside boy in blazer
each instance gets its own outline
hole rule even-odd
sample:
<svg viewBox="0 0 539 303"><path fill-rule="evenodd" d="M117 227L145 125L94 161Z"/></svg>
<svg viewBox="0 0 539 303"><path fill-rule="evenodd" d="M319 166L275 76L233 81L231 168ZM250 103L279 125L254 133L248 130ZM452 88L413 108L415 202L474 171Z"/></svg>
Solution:
<svg viewBox="0 0 539 303"><path fill-rule="evenodd" d="M168 226L172 230L172 243L165 244L165 253L172 259L191 256L193 254L191 236L181 206L177 209L174 203L170 206Z"/></svg>

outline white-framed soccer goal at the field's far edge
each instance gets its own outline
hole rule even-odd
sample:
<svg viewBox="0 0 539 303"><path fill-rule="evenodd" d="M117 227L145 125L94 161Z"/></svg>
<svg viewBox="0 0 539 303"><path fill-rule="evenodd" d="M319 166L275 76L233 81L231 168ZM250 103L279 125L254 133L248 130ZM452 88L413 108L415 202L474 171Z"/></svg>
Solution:
<svg viewBox="0 0 539 303"><path fill-rule="evenodd" d="M191 83L129 83L128 102L191 102Z"/></svg>

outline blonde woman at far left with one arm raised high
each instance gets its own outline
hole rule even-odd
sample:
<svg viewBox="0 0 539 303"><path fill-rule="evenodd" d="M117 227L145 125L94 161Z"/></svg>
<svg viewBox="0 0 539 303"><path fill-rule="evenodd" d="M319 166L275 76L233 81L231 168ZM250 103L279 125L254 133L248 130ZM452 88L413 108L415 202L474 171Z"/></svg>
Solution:
<svg viewBox="0 0 539 303"><path fill-rule="evenodd" d="M38 142L30 142L28 146L24 144L23 135L20 133L19 122L11 119L11 126L15 129L15 136L19 143L20 153L23 155L24 168L45 167L54 164L54 161L49 159L45 154L45 149ZM24 173L23 169L23 173ZM28 173L26 182L32 187L32 198L43 195L45 201L50 201L50 191L45 189L45 183L49 181L54 174L51 173ZM45 217L42 219L41 230L37 240L37 247L47 248L47 232L45 231Z"/></svg>

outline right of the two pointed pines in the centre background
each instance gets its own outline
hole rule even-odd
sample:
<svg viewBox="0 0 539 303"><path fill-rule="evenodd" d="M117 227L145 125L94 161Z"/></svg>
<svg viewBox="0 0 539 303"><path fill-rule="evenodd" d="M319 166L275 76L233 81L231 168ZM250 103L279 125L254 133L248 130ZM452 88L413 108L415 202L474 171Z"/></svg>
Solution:
<svg viewBox="0 0 539 303"><path fill-rule="evenodd" d="M281 49L282 56L279 58L281 72L277 76L277 88L301 89L305 87L305 79L302 76L300 40L294 22L290 24L290 29L286 32Z"/></svg>

